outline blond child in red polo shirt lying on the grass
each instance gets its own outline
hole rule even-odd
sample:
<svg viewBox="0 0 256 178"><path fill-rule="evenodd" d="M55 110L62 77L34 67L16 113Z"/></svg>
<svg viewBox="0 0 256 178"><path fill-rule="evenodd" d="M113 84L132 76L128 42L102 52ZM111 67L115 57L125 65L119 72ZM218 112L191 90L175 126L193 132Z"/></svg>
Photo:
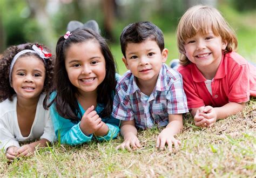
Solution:
<svg viewBox="0 0 256 178"><path fill-rule="evenodd" d="M256 67L234 52L237 37L217 9L188 9L178 24L177 43L178 71L196 126L212 126L256 96Z"/></svg>

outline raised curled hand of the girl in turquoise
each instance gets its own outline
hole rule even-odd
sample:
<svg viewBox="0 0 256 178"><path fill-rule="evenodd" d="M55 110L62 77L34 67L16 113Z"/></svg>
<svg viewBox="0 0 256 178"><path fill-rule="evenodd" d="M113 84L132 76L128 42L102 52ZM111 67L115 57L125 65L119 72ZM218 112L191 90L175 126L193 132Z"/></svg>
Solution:
<svg viewBox="0 0 256 178"><path fill-rule="evenodd" d="M93 111L94 106L89 107L80 122L80 128L85 135L90 135L98 131L103 126L102 119L96 111Z"/></svg>

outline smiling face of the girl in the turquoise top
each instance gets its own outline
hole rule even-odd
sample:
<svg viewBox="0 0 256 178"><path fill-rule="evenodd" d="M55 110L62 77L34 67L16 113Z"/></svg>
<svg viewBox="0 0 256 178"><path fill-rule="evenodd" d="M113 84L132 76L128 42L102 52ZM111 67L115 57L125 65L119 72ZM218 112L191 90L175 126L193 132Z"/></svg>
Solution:
<svg viewBox="0 0 256 178"><path fill-rule="evenodd" d="M66 51L65 67L72 85L78 92L97 92L106 76L105 58L99 43L89 40L72 44Z"/></svg>

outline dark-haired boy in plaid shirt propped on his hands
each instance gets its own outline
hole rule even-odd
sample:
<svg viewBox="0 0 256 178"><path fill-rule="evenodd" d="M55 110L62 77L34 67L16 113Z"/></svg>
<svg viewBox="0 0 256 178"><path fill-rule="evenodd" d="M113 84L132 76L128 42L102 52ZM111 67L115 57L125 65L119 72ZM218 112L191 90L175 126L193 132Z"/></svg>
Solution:
<svg viewBox="0 0 256 178"><path fill-rule="evenodd" d="M180 141L174 135L183 128L187 100L180 73L164 64L168 50L164 48L163 33L150 22L132 23L124 28L120 43L129 71L119 79L113 101L112 116L122 120L124 137L117 148L139 148L137 128L154 125L166 126L156 147L164 149L167 143L170 151L172 145L177 148Z"/></svg>

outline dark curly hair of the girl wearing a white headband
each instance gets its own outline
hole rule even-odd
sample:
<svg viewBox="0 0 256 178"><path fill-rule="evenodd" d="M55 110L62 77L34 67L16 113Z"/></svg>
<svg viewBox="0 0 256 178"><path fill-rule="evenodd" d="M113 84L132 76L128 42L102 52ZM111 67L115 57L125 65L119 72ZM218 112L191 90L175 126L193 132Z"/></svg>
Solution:
<svg viewBox="0 0 256 178"><path fill-rule="evenodd" d="M42 46L45 51L50 52L48 47L45 47L42 44L38 43L26 43L18 46L10 46L8 49L6 49L3 53L3 56L1 57L0 61L0 102L4 101L5 99L9 99L10 101L13 100L13 95L15 94L14 88L10 86L9 83L9 73L10 73L10 65L12 59L14 59L14 56L23 50L33 50L32 46ZM21 55L21 57L24 56L35 56L39 59L42 59L38 56L36 53L24 53ZM52 78L53 78L53 57L50 57L49 59L43 59L45 60L45 80L44 80L44 88L42 93L47 93L49 91L49 88L52 84ZM44 101L46 102L46 101Z"/></svg>

